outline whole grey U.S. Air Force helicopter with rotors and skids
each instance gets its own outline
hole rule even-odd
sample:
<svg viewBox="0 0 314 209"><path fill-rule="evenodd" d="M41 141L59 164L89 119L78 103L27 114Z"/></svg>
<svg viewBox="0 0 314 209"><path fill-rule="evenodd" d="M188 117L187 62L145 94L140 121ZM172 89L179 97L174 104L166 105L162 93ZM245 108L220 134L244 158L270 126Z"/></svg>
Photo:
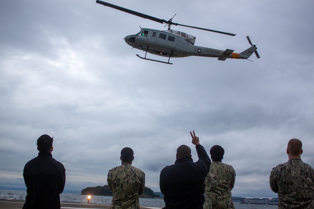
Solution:
<svg viewBox="0 0 314 209"><path fill-rule="evenodd" d="M194 29L201 29L231 36L235 36L236 34L174 23L172 22L172 18L174 18L174 16L170 20L166 21L164 19L155 18L143 13L135 12L133 10L119 7L103 1L96 0L96 3L102 4L107 7L115 8L126 13L130 13L141 18L149 19L161 24L168 25L168 30L155 30L140 27L141 30L137 34L127 35L124 38L124 41L132 48L146 52L145 57L137 55L141 59L161 62L165 64L172 64L169 62L171 57L176 58L176 57L202 56L202 57L215 57L218 58L218 60L225 61L227 58L248 59L253 53L255 53L257 59L260 58L256 51L257 50L256 45L252 44L248 36L246 36L246 38L248 42L251 44L251 47L244 50L241 53L234 53L233 52L234 50L230 49L217 50L202 46L196 46L194 45L196 39L195 36L186 34L178 30L173 30L171 29L171 25L179 25ZM147 52L153 55L169 57L168 62L148 59L146 58Z"/></svg>

